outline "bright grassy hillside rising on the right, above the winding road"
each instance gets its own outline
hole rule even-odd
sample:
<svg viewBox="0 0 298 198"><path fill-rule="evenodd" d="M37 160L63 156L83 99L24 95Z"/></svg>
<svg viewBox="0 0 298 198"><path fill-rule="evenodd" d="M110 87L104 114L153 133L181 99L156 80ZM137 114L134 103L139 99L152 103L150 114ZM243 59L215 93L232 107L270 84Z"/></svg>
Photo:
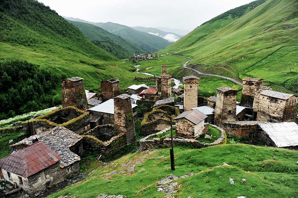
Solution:
<svg viewBox="0 0 298 198"><path fill-rule="evenodd" d="M254 1L205 22L160 53L193 57L190 63L203 72L259 77L277 91L292 92L298 80L297 10L297 0Z"/></svg>

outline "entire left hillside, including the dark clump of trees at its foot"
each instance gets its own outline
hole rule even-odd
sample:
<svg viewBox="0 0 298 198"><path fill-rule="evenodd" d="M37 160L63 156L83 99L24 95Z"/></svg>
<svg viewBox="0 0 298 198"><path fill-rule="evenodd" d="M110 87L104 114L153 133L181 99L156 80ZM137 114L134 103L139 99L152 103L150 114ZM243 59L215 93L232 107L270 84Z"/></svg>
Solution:
<svg viewBox="0 0 298 198"><path fill-rule="evenodd" d="M102 80L119 78L123 90L146 77L38 1L0 1L0 35L0 119L60 104L65 78L99 92Z"/></svg>

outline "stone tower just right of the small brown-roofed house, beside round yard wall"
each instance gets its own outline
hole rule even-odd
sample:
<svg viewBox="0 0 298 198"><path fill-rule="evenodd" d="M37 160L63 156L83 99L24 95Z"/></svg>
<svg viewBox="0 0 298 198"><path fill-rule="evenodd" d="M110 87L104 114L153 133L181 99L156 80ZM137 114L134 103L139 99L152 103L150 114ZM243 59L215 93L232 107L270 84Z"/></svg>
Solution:
<svg viewBox="0 0 298 198"><path fill-rule="evenodd" d="M217 88L214 123L236 121L237 90L229 87Z"/></svg>

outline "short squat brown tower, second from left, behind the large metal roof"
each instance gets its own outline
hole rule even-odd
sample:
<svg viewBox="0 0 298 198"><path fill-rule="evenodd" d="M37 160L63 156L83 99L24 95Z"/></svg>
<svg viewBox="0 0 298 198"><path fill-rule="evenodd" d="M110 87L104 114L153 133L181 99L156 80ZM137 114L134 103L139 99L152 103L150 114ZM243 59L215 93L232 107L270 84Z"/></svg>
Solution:
<svg viewBox="0 0 298 198"><path fill-rule="evenodd" d="M103 102L120 95L120 84L118 79L110 79L101 81L101 94L103 95Z"/></svg>

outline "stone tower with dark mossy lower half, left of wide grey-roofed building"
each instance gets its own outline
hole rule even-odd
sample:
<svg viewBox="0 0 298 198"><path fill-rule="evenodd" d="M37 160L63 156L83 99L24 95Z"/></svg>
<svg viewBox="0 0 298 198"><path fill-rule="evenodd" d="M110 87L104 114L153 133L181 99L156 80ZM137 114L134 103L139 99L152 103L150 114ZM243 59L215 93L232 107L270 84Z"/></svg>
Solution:
<svg viewBox="0 0 298 198"><path fill-rule="evenodd" d="M263 83L261 78L244 78L243 80L242 96L240 100L241 106L253 107L255 88L259 87Z"/></svg>

